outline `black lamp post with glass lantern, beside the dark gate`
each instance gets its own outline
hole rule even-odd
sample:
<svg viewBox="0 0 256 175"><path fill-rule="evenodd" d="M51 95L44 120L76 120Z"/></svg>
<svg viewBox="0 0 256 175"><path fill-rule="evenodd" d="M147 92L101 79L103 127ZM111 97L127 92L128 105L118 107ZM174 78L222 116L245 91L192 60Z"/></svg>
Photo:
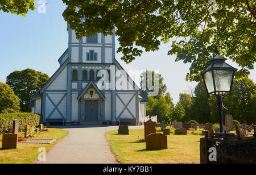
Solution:
<svg viewBox="0 0 256 175"><path fill-rule="evenodd" d="M210 65L200 74L203 76L208 95L214 94L217 97L220 132L223 132L222 102L226 95L231 94L234 72L237 69L227 64L227 59L218 55L217 47L214 52L216 55L209 61Z"/></svg>

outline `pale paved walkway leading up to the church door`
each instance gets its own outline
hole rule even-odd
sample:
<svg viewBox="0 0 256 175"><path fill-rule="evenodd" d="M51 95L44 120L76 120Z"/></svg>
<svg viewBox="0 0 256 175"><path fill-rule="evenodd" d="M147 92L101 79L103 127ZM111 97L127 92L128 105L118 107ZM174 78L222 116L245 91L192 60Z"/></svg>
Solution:
<svg viewBox="0 0 256 175"><path fill-rule="evenodd" d="M67 130L68 135L46 153L46 161L35 161L35 163L118 163L105 138L105 132L117 130L118 126L64 126L57 128ZM137 128L143 128L143 126L129 126L129 129Z"/></svg>

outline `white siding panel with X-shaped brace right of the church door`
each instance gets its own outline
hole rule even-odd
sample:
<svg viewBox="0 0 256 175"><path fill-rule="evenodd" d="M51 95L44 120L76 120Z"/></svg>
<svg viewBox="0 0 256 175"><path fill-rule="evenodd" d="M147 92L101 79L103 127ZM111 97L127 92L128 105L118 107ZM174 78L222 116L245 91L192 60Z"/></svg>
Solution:
<svg viewBox="0 0 256 175"><path fill-rule="evenodd" d="M134 93L117 93L119 97L122 99L122 101L127 105L127 103L130 101L131 97L133 97ZM136 102L135 102L135 96L127 106L127 108L130 110L131 114L136 118ZM117 111L117 117L121 114L122 110L125 109L125 106L120 101L118 97L116 97L116 111ZM129 113L127 109L123 111L120 118L133 118L133 116Z"/></svg>

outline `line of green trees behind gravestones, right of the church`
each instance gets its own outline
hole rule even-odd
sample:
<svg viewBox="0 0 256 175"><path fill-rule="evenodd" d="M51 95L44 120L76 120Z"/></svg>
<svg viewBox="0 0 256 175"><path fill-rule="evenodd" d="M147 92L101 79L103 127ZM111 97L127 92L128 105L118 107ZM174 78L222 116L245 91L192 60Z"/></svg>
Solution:
<svg viewBox="0 0 256 175"><path fill-rule="evenodd" d="M166 86L159 74L159 86ZM180 93L179 102L175 105L167 88L159 91L155 97L148 97L147 115L158 115L158 121L189 122L196 120L198 123L219 123L217 103L212 96L207 96L203 82L199 82L191 93ZM225 115L231 114L234 120L240 123L256 124L256 85L250 78L235 80L232 95L224 98L223 120Z"/></svg>

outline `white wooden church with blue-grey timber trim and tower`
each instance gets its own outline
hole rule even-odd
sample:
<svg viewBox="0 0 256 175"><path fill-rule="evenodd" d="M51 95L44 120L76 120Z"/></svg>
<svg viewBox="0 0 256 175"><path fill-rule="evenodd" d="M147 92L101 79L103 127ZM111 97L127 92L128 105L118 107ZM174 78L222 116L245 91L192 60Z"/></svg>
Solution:
<svg viewBox="0 0 256 175"><path fill-rule="evenodd" d="M68 25L68 49L59 58L60 67L33 97L33 113L44 122L139 124L146 116L146 91L141 91L115 60L115 35L96 34L78 40ZM98 76L100 70L105 74ZM122 70L119 77L116 72ZM98 81L102 77L108 83ZM117 89L118 78L127 88Z"/></svg>

